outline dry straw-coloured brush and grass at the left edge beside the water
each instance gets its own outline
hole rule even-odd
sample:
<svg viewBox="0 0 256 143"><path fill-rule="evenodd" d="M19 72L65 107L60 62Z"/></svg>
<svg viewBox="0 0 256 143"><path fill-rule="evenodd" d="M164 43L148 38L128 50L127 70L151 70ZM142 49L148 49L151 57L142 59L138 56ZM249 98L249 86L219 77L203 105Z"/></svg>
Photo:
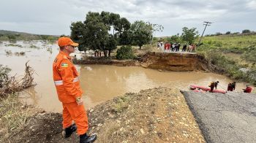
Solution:
<svg viewBox="0 0 256 143"><path fill-rule="evenodd" d="M10 138L10 133L16 133L28 125L29 117L38 110L20 103L16 93L34 85L34 70L27 63L25 75L20 78L10 77L11 69L0 64L0 136L3 140Z"/></svg>

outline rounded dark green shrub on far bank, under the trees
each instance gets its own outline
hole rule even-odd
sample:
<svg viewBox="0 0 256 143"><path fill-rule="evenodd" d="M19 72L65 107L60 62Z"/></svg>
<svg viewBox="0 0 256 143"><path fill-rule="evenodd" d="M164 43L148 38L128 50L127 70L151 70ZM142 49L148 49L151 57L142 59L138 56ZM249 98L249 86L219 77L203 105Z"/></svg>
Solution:
<svg viewBox="0 0 256 143"><path fill-rule="evenodd" d="M116 58L118 60L122 59L131 59L135 56L132 53L132 47L131 46L122 46L120 49L116 51Z"/></svg>

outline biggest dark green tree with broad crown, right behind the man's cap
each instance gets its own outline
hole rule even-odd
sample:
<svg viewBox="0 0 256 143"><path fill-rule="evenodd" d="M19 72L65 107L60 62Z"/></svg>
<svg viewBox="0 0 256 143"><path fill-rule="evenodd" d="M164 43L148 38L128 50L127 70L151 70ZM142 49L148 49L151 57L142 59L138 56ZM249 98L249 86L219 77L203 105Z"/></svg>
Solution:
<svg viewBox="0 0 256 143"><path fill-rule="evenodd" d="M109 31L113 27L113 34ZM121 34L126 32L130 23L126 18L120 18L120 15L102 11L89 12L84 22L78 21L72 23L71 38L79 43L79 50L101 50L109 56L112 50L116 49L117 41ZM116 34L115 34L115 31ZM124 34L124 36L125 36Z"/></svg>

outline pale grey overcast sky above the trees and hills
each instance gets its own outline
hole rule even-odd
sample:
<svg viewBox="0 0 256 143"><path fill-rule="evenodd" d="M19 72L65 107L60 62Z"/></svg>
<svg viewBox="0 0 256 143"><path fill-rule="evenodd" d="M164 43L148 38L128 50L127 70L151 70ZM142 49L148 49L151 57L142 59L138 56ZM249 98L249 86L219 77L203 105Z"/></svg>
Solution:
<svg viewBox="0 0 256 143"><path fill-rule="evenodd" d="M87 12L114 12L131 23L144 20L164 26L154 36L181 34L182 27L205 34L256 31L256 0L1 0L0 30L32 34L70 34L70 24Z"/></svg>

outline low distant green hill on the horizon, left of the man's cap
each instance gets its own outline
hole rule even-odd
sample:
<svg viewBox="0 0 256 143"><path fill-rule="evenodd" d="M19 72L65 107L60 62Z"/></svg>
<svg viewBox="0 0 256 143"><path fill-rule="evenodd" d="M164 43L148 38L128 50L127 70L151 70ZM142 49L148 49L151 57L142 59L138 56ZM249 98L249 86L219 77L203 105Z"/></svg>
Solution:
<svg viewBox="0 0 256 143"><path fill-rule="evenodd" d="M53 35L39 35L39 34L29 34L25 32L18 31L6 31L0 30L0 41L8 40L48 40L53 41L58 39L59 36Z"/></svg>

